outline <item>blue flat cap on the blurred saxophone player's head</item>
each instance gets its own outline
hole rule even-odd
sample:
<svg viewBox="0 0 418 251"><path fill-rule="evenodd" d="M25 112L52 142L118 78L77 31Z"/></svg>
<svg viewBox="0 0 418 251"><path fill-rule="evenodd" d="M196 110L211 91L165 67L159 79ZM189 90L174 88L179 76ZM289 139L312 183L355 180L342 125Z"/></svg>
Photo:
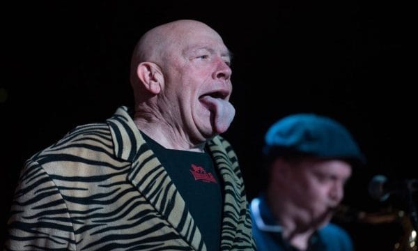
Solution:
<svg viewBox="0 0 418 251"><path fill-rule="evenodd" d="M350 132L326 116L292 114L274 123L265 135L265 153L302 153L318 158L349 160L363 165L366 160Z"/></svg>

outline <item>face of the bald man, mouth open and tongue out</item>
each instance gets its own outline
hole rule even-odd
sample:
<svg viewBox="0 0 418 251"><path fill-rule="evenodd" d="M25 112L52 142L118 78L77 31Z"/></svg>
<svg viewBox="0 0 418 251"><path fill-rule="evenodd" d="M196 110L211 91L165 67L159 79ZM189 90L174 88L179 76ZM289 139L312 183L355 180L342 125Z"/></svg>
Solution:
<svg viewBox="0 0 418 251"><path fill-rule="evenodd" d="M188 28L188 29L187 29ZM231 54L207 26L181 29L163 56L165 86L160 107L191 142L226 131L235 115L231 96Z"/></svg>

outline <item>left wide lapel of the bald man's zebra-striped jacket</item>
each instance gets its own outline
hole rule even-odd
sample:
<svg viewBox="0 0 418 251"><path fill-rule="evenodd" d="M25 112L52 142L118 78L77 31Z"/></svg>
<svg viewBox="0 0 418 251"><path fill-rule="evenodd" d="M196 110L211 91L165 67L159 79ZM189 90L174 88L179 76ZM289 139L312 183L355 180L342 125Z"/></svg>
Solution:
<svg viewBox="0 0 418 251"><path fill-rule="evenodd" d="M127 113L127 108L119 108L107 123L111 130L116 155L132 162L127 179L189 245L195 250L206 250L201 232L196 227L192 215L187 211L183 197L153 151L148 148Z"/></svg>

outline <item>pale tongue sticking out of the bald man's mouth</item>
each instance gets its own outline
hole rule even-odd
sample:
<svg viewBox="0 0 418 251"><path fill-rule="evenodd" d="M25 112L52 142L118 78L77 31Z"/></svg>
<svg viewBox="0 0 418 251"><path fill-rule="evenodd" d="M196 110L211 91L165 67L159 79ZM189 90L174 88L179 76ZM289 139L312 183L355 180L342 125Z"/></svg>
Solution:
<svg viewBox="0 0 418 251"><path fill-rule="evenodd" d="M221 98L212 98L211 96L204 96L201 98L211 112L214 113L213 124L217 133L225 132L235 116L235 108L229 101Z"/></svg>

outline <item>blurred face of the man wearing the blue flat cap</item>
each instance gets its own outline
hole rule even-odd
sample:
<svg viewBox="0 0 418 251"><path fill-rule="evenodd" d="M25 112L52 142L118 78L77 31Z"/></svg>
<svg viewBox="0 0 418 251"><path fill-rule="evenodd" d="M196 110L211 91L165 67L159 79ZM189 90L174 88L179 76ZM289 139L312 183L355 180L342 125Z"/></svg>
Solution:
<svg viewBox="0 0 418 251"><path fill-rule="evenodd" d="M291 167L293 189L289 192L293 203L304 211L302 219L317 227L329 222L351 172L351 166L341 160L307 159Z"/></svg>

